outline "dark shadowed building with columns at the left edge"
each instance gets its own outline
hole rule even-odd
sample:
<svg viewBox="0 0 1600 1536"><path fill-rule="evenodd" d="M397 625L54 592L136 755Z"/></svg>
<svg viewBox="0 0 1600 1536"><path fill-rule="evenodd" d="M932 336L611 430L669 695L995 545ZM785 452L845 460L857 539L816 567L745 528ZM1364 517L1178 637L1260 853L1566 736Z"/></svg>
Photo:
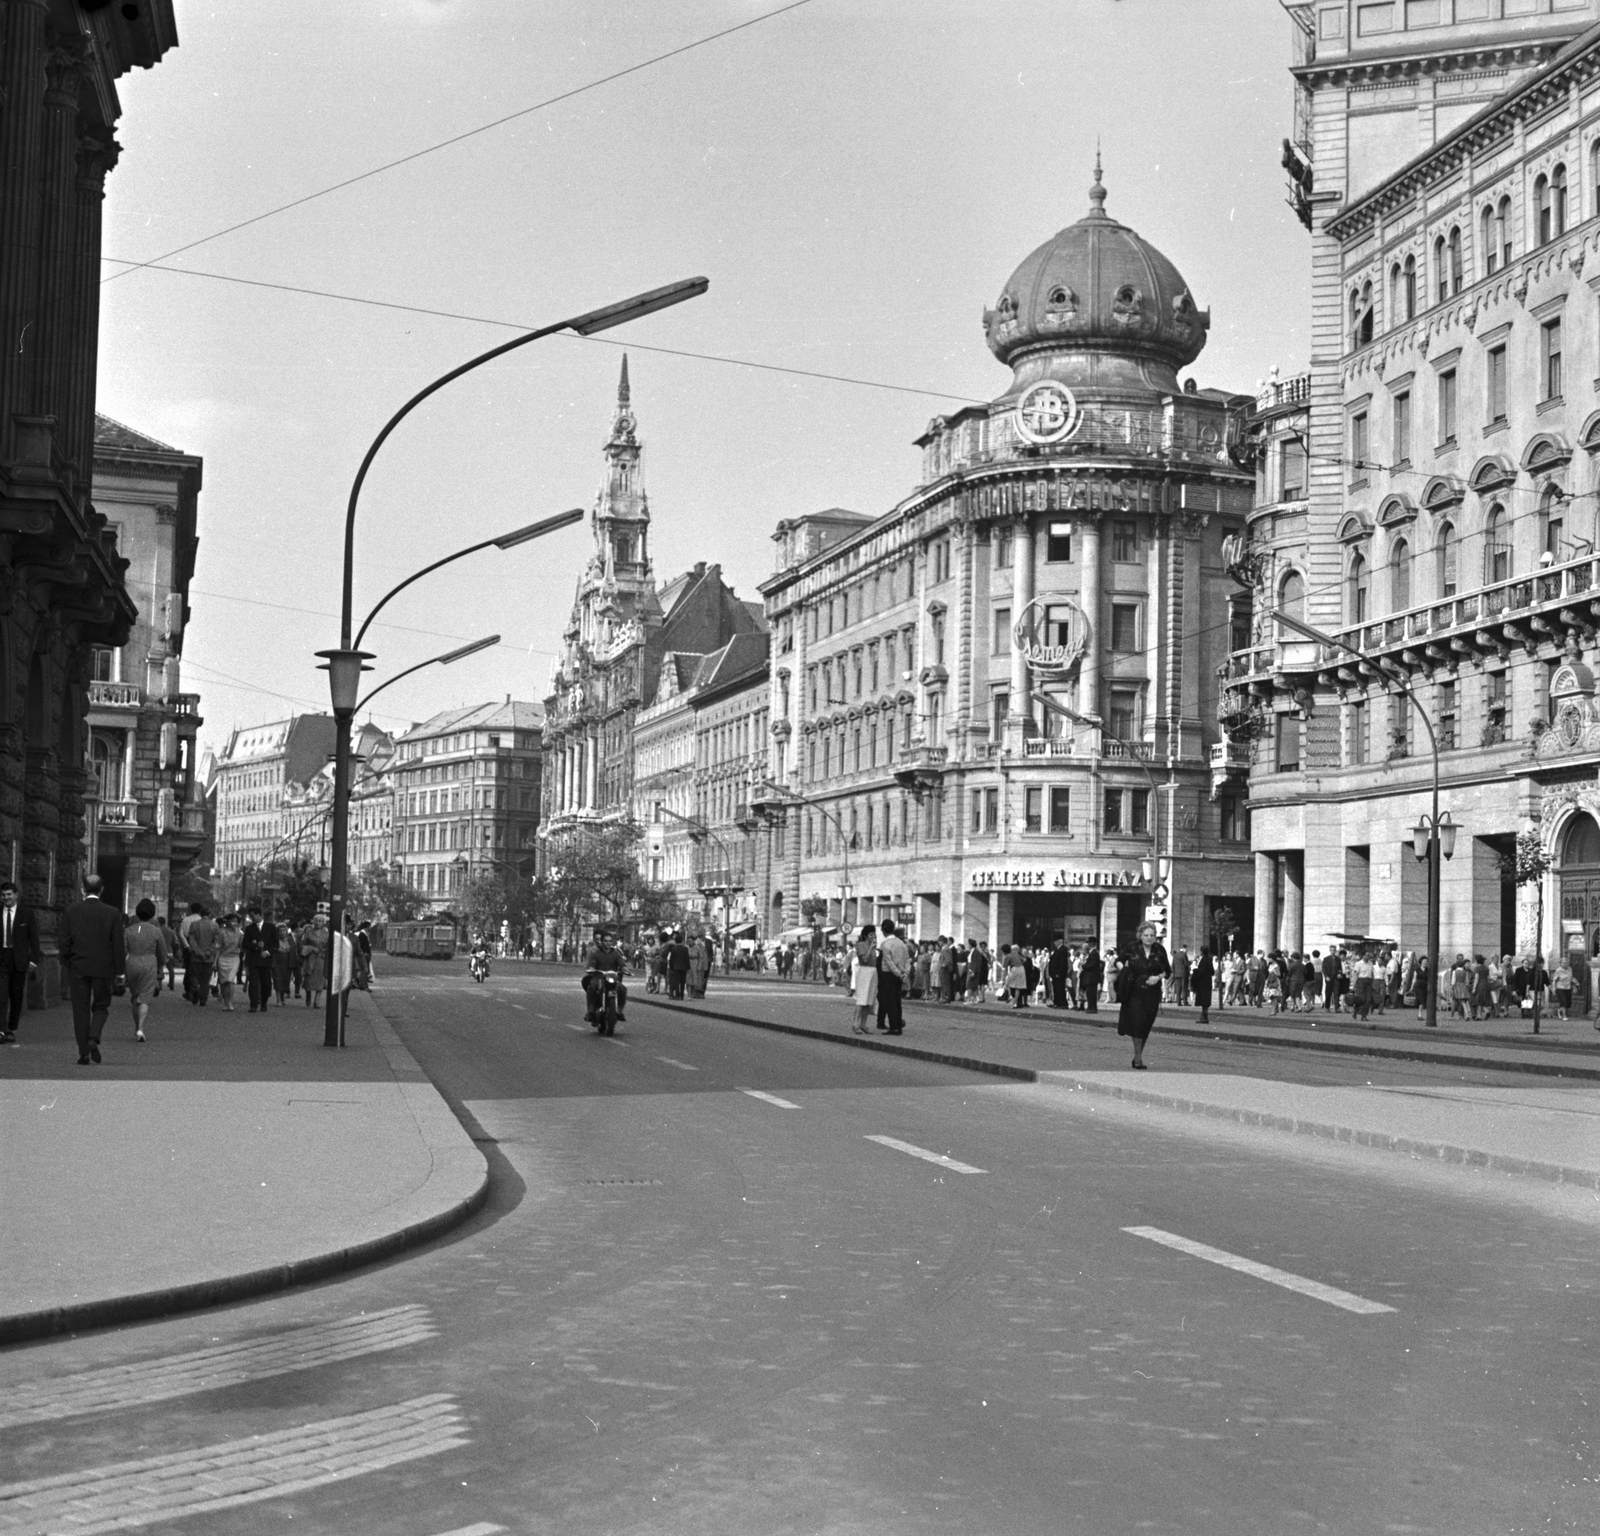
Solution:
<svg viewBox="0 0 1600 1536"><path fill-rule="evenodd" d="M94 651L125 645L139 610L93 499L117 80L176 42L170 0L0 3L0 862L46 955L90 850Z"/></svg>

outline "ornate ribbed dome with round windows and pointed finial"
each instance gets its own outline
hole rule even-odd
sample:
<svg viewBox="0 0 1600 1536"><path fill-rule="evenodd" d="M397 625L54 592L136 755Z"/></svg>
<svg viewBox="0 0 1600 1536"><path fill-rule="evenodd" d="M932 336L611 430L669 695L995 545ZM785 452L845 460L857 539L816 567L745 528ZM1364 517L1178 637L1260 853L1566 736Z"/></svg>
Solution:
<svg viewBox="0 0 1600 1536"><path fill-rule="evenodd" d="M1182 274L1106 213L1099 155L1090 211L1024 258L984 310L989 349L1011 365L1040 352L1106 352L1176 371L1200 355L1210 325Z"/></svg>

